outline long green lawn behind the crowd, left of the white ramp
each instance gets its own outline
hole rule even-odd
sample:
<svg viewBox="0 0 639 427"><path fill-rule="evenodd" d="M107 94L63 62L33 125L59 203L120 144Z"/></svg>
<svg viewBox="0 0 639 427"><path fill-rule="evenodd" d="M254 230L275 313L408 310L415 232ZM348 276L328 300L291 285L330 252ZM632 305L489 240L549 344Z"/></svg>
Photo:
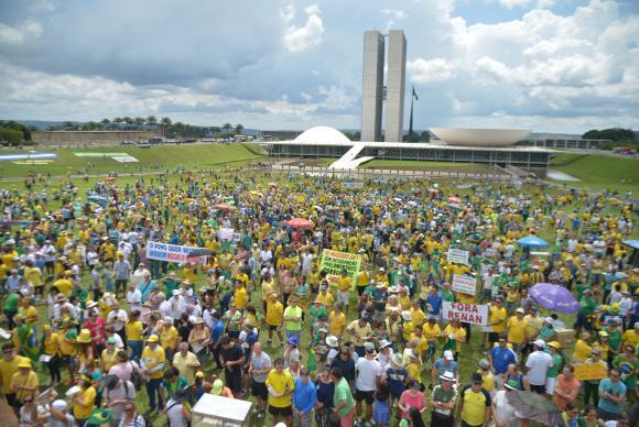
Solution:
<svg viewBox="0 0 639 427"><path fill-rule="evenodd" d="M242 144L197 144L197 145L156 145L150 149L130 147L124 145L100 149L61 149L37 150L37 152L53 152L58 158L46 165L18 165L13 162L0 162L0 177L23 177L30 172L40 174L51 173L53 176L67 173L84 173L87 168L90 174L109 172L151 171L158 165L161 168L183 166L216 167L225 164L240 164L241 162L261 158L254 151ZM74 152L83 153L127 153L139 160L139 163L118 163L105 155L104 157L78 157ZM1 151L0 154L28 154L26 150ZM89 163L93 166L89 167Z"/></svg>

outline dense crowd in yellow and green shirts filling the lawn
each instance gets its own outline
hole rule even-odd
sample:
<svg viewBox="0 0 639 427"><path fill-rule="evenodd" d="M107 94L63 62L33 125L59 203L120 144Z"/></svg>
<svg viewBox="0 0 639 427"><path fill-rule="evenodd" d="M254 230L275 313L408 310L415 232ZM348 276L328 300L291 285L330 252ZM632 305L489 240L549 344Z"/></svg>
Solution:
<svg viewBox="0 0 639 427"><path fill-rule="evenodd" d="M20 426L182 427L204 394L286 426L527 426L527 402L554 425L637 423L630 195L266 173L82 193L0 190L0 381ZM160 261L150 242L204 255ZM324 249L358 254L357 275L327 274ZM576 316L538 283L570 289ZM487 324L445 318L452 302L488 305Z"/></svg>

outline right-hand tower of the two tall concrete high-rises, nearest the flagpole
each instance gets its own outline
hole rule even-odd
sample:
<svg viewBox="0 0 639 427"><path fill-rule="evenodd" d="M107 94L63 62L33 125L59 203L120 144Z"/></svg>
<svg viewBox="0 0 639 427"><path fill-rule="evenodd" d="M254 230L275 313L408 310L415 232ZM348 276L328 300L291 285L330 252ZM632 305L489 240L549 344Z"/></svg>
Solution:
<svg viewBox="0 0 639 427"><path fill-rule="evenodd" d="M388 33L388 72L386 92L386 142L402 142L407 74L407 39L401 30ZM362 141L367 141L364 140Z"/></svg>

